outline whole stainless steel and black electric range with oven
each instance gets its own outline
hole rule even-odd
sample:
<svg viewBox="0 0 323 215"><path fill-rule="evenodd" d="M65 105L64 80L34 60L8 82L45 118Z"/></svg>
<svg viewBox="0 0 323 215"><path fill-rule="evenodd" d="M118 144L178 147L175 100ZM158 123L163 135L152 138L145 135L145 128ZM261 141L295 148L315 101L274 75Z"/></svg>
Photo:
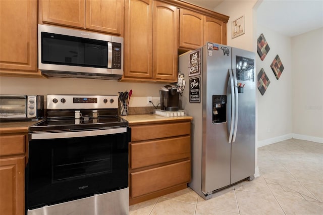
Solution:
<svg viewBox="0 0 323 215"><path fill-rule="evenodd" d="M118 96L47 95L29 128L26 214L128 214L128 122Z"/></svg>

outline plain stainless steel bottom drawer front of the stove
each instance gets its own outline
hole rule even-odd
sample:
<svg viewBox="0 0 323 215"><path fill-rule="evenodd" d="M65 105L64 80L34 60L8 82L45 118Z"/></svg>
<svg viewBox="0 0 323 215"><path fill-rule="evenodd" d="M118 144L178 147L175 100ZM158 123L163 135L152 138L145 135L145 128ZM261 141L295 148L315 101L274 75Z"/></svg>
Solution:
<svg viewBox="0 0 323 215"><path fill-rule="evenodd" d="M129 188L29 210L28 215L128 214Z"/></svg>

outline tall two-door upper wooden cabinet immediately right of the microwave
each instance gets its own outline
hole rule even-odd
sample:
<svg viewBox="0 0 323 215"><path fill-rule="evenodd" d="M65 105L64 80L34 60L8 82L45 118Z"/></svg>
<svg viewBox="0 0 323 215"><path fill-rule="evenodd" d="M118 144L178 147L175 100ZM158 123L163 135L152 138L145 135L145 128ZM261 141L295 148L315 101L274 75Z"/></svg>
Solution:
<svg viewBox="0 0 323 215"><path fill-rule="evenodd" d="M177 23L174 6L152 0L126 1L122 80L177 81Z"/></svg>

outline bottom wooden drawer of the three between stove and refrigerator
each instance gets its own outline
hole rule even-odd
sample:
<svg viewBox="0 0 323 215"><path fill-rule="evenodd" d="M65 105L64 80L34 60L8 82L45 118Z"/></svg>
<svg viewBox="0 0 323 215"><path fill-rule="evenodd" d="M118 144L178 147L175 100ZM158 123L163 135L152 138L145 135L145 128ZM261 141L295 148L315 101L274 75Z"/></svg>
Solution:
<svg viewBox="0 0 323 215"><path fill-rule="evenodd" d="M131 173L130 177L131 197L134 198L190 182L191 162L186 160L177 164Z"/></svg>

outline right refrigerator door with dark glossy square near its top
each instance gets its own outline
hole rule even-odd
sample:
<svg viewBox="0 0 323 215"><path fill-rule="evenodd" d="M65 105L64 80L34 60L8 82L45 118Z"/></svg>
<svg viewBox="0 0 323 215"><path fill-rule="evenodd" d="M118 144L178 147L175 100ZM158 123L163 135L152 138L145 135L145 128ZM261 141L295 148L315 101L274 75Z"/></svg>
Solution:
<svg viewBox="0 0 323 215"><path fill-rule="evenodd" d="M238 118L231 145L231 184L253 177L255 168L255 54L232 48L232 68L237 78Z"/></svg>

